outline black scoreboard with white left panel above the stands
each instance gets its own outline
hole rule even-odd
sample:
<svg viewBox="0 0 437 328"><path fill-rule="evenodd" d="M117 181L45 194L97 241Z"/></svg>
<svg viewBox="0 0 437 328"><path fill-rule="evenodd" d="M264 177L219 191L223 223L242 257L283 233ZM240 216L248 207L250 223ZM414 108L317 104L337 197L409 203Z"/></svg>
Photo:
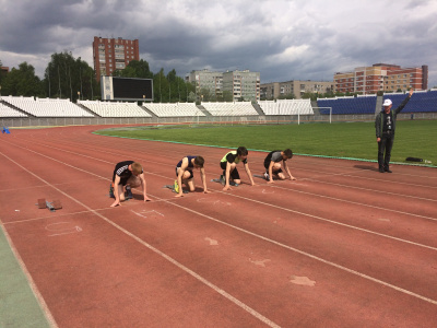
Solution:
<svg viewBox="0 0 437 328"><path fill-rule="evenodd" d="M153 101L153 80L101 77L102 101Z"/></svg>

